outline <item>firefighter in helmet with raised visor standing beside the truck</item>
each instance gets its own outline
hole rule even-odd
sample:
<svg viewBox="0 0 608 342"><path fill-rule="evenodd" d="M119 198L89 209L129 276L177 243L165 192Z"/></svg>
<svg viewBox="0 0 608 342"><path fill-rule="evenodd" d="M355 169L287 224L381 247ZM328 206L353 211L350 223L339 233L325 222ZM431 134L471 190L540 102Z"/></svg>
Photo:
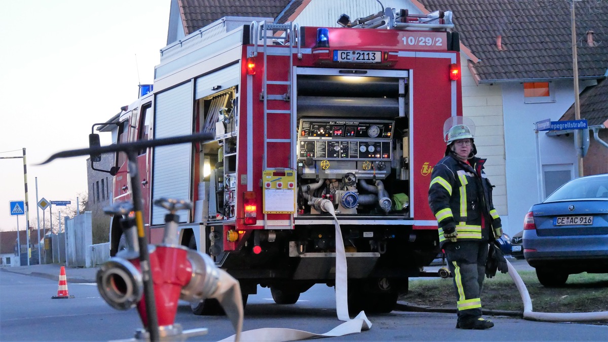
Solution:
<svg viewBox="0 0 608 342"><path fill-rule="evenodd" d="M447 130L446 130L447 128ZM502 236L500 217L492 205L492 185L477 158L475 125L465 117L444 124L446 152L431 173L429 205L439 228L440 247L454 277L458 329L489 329L482 318L480 295L490 240Z"/></svg>

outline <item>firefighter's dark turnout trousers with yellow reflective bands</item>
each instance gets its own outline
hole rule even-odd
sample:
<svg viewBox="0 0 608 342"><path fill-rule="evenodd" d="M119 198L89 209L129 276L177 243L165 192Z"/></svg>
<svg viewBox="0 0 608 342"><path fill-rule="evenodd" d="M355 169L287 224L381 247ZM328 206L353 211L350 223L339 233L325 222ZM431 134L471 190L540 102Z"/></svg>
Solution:
<svg viewBox="0 0 608 342"><path fill-rule="evenodd" d="M457 241L443 245L447 265L454 277L458 321L482 316L482 288L488 242Z"/></svg>

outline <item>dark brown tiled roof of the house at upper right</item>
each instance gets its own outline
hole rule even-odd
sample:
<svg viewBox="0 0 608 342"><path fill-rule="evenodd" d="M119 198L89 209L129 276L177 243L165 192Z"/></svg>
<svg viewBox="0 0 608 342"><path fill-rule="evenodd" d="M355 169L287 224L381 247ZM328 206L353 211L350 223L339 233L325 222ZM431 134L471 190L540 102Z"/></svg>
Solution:
<svg viewBox="0 0 608 342"><path fill-rule="evenodd" d="M568 1L418 1L430 12L454 13L461 43L480 58L475 69L482 81L573 77ZM603 77L608 69L608 1L577 2L575 10L579 77ZM588 30L596 42L605 43L589 47ZM496 47L498 35L502 51Z"/></svg>

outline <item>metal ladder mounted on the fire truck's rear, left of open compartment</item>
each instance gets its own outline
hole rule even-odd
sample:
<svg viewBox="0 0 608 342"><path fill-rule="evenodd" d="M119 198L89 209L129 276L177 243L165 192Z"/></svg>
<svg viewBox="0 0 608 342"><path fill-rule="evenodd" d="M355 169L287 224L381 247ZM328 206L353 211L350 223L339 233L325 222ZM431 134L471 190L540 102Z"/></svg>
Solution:
<svg viewBox="0 0 608 342"><path fill-rule="evenodd" d="M289 102L291 97L291 88L292 88L292 69L294 68L293 61L293 53L294 53L294 43L296 40L297 32L294 31L294 24L291 22L286 24L274 24L274 23L266 23L266 21L262 21L259 26L255 21L252 23L252 42L255 45L254 55L257 55L257 47L259 41L263 41L262 52L264 55L264 68L262 74L262 89L260 93L260 100L264 102L264 154L262 156L262 170L277 170L277 171L285 171L291 169L291 159L292 159L292 147L294 145L294 135L295 135L295 117L293 114L291 103L289 103L288 110L277 110L277 109L268 109L269 101L283 101ZM295 26L297 27L297 25ZM296 29L297 30L297 29ZM258 32L259 31L259 34ZM274 42L279 45L275 45ZM282 46L282 47L279 47ZM268 79L268 56L287 56L289 59L289 69L287 70L284 77L280 79ZM271 94L269 93L269 85L284 85L286 86L286 92L284 94ZM284 87L271 87L274 89ZM271 106L272 107L272 106ZM288 139L275 139L268 138L268 124L269 114L282 114L289 116L289 138ZM268 144L286 144L289 150L289 155L286 161L285 166L281 167L268 167ZM293 214L290 214L291 220L293 219ZM267 214L264 214L264 228L267 228L268 220Z"/></svg>

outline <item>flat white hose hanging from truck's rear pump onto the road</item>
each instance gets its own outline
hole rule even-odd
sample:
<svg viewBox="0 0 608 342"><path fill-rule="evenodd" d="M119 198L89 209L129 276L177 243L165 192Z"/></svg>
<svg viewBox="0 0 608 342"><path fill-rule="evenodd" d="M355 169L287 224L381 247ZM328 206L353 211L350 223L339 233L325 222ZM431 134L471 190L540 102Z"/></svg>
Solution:
<svg viewBox="0 0 608 342"><path fill-rule="evenodd" d="M348 315L348 270L346 254L344 251L344 240L338 223L334 206L329 200L322 200L319 203L320 209L330 213L334 217L336 226L336 312L340 321L345 323L331 329L326 333L312 333L303 330L286 328L260 328L247 330L241 333L240 341L297 341L308 340L309 338L319 337L339 337L350 333L359 333L362 330L369 330L371 322L365 316L365 312L360 312L355 318L350 319ZM224 338L219 342L238 341L235 335Z"/></svg>

